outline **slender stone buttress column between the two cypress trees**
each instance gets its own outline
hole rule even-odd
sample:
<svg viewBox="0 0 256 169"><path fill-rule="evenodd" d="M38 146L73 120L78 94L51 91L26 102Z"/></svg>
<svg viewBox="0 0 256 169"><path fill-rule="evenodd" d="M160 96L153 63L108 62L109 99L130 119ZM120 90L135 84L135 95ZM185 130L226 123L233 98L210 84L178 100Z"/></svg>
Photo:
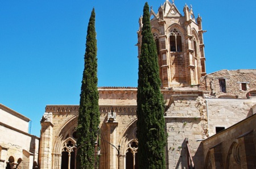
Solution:
<svg viewBox="0 0 256 169"><path fill-rule="evenodd" d="M118 151L115 149L117 147L117 126L118 122L115 121L116 113L109 112L108 113L108 121L106 122L106 126L108 126L108 142L109 142L109 164L108 168L117 169L118 168ZM113 147L112 145L115 147Z"/></svg>

